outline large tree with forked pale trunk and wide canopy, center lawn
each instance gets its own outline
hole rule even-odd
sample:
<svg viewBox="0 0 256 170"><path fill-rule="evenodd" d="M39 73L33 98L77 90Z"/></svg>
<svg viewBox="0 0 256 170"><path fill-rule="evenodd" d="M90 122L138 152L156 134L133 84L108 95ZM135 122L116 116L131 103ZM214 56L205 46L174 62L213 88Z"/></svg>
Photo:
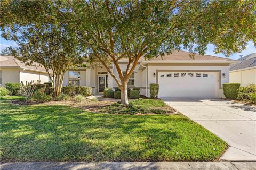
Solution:
<svg viewBox="0 0 256 170"><path fill-rule="evenodd" d="M142 56L150 60L181 47L203 55L208 44L215 46L215 53L228 56L241 52L248 41L255 44L255 3L250 0L8 1L0 9L4 15L1 27L11 28L9 22L20 20L23 25L41 23L38 27L49 22L63 25L63 30L79 41L91 62L106 67L121 90L121 103L128 104L127 83ZM17 20L10 19L13 17ZM119 60L128 62L124 72ZM110 61L117 76L108 67Z"/></svg>

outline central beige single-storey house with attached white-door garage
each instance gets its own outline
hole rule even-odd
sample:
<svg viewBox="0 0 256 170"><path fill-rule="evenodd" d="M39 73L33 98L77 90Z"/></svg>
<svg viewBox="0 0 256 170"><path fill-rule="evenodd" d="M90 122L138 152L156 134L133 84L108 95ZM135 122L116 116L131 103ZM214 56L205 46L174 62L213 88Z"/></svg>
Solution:
<svg viewBox="0 0 256 170"><path fill-rule="evenodd" d="M237 63L228 58L195 54L194 59L189 52L174 51L162 58L145 60L141 58L132 73L128 87L140 88L141 95L147 97L149 84L158 83L158 97L180 98L218 98L223 96L222 84L229 83L230 64ZM122 71L125 71L127 61L119 61ZM117 74L112 63L109 68ZM102 93L105 87L117 88L115 80L108 74L105 67L78 67L65 73L63 86L77 85L80 77L81 86L90 86L93 94ZM117 76L118 77L118 76Z"/></svg>

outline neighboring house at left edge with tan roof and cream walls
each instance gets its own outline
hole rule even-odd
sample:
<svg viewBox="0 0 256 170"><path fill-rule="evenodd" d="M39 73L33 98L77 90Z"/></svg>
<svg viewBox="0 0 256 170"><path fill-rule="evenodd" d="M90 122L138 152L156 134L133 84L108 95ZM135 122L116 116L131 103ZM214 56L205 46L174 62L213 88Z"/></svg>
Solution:
<svg viewBox="0 0 256 170"><path fill-rule="evenodd" d="M49 82L43 66L36 62L33 62L33 66L28 66L12 56L0 56L0 86L5 86L6 82L20 83L31 80Z"/></svg>

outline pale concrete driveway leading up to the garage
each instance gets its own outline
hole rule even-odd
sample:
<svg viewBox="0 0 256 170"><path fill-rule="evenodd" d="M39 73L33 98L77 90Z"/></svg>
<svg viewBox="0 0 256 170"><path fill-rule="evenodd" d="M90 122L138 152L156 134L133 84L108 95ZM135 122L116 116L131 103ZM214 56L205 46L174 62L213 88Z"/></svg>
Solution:
<svg viewBox="0 0 256 170"><path fill-rule="evenodd" d="M222 99L162 99L228 143L220 159L256 160L256 107Z"/></svg>

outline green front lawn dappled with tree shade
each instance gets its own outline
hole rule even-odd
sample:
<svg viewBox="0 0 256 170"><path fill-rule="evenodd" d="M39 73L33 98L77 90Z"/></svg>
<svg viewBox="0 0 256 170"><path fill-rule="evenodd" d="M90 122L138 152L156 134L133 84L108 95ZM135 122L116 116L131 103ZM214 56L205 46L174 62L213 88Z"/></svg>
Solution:
<svg viewBox="0 0 256 170"><path fill-rule="evenodd" d="M227 145L183 115L98 114L0 97L0 158L13 161L216 160ZM215 148L215 149L213 149Z"/></svg>

